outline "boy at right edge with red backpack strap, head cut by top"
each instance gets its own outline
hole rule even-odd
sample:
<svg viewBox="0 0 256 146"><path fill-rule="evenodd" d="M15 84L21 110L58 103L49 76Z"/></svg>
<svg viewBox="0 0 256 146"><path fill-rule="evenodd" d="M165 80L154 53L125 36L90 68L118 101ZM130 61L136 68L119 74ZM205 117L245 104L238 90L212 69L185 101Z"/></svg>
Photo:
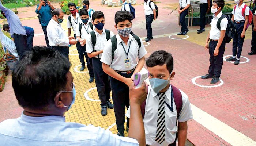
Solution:
<svg viewBox="0 0 256 146"><path fill-rule="evenodd" d="M226 61L235 61L234 64L238 65L244 44L245 31L248 24L250 8L245 6L244 0L235 0L235 3L237 5L234 6L232 11L233 16L231 19L236 26L236 32L233 36L233 55L232 57L226 59ZM244 7L246 7L245 12L242 12Z"/></svg>

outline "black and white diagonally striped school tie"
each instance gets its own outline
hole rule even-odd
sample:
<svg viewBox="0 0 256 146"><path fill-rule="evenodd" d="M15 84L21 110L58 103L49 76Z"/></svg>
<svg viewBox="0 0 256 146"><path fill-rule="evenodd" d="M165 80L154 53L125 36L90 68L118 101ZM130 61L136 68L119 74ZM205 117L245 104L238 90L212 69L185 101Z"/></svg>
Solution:
<svg viewBox="0 0 256 146"><path fill-rule="evenodd" d="M155 141L163 143L165 141L165 93L158 93L159 105L157 115L157 135Z"/></svg>

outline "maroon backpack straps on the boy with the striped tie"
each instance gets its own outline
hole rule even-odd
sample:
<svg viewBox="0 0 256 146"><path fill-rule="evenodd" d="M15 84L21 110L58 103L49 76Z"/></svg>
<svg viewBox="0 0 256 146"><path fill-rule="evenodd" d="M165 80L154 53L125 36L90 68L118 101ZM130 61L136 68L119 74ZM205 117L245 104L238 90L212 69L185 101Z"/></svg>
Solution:
<svg viewBox="0 0 256 146"><path fill-rule="evenodd" d="M176 110L177 110L177 119L179 118L180 116L180 111L182 110L182 104L183 104L183 101L182 101L182 95L181 95L181 92L178 88L176 88L175 86L171 85L172 87L172 92L173 92L173 99L174 99L174 103L175 103L175 106L176 106ZM146 86L146 90L148 92L148 86ZM142 118L144 119L144 116L145 116L145 108L146 108L146 100L145 99L142 103L142 105L140 105L140 108L141 108L141 114L142 114ZM170 109L170 111L173 111L172 108L170 107L170 105L166 104L167 107ZM177 121L176 121L176 125L177 125Z"/></svg>

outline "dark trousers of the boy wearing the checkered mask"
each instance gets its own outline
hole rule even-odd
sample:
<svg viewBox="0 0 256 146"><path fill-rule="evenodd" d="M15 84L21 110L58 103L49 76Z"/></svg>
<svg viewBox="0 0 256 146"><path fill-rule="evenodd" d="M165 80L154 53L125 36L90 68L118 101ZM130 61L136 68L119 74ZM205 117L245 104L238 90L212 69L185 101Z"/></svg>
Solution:
<svg viewBox="0 0 256 146"><path fill-rule="evenodd" d="M133 71L134 72L134 71ZM123 77L129 78L132 73L118 73ZM125 121L125 107L128 109L130 106L129 100L129 87L113 77L110 78L110 85L112 90L112 97L114 103L114 112L116 116L116 126L119 133L124 132L124 121ZM129 118L127 117L126 127L129 127Z"/></svg>

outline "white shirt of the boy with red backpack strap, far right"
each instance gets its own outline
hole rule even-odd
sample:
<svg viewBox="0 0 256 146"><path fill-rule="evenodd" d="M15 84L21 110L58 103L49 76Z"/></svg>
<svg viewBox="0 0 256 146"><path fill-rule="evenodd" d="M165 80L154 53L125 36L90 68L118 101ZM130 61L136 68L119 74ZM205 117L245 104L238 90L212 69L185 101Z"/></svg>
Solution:
<svg viewBox="0 0 256 146"><path fill-rule="evenodd" d="M237 22L241 22L241 21L244 21L244 20L245 20L243 14L242 14L242 9L244 8L244 5L245 5L245 3L243 3L243 4L238 8L238 4L237 4L237 5L236 5L236 10L234 10L235 7L233 8L232 14L234 15L234 20L237 21ZM245 8L245 16L247 16L247 15L250 14L249 11L250 11L250 8L249 8L249 7L246 7L246 8Z"/></svg>

